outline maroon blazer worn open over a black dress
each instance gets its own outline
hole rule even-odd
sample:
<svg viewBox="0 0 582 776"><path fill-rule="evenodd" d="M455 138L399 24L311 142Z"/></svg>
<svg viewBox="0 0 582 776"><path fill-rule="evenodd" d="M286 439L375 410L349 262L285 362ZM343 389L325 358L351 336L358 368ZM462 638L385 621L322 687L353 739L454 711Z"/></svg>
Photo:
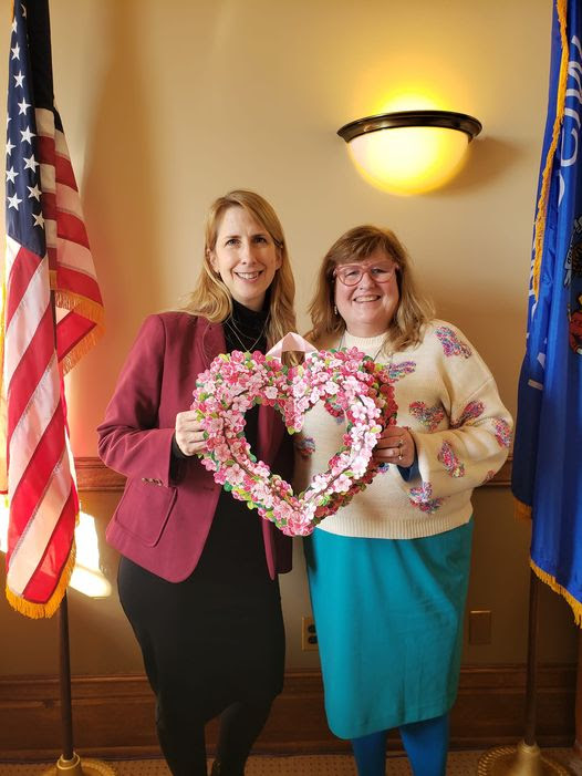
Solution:
<svg viewBox="0 0 582 776"><path fill-rule="evenodd" d="M170 582L196 568L220 494L198 456L173 457L176 414L189 410L197 375L225 351L221 324L185 312L149 315L97 428L101 458L127 477L107 541ZM279 413L261 405L257 453L288 478L292 451L283 435ZM262 520L262 534L274 579L291 570L291 539L268 520Z"/></svg>

